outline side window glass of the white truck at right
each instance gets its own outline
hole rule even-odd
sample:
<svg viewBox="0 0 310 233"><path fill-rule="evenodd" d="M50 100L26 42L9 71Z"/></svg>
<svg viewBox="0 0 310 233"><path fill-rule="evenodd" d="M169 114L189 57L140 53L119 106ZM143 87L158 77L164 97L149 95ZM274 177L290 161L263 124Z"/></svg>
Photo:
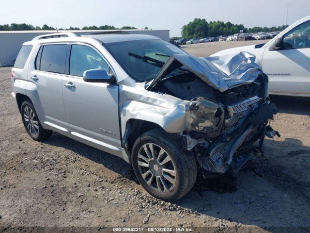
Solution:
<svg viewBox="0 0 310 233"><path fill-rule="evenodd" d="M283 36L285 49L310 48L310 21L299 24Z"/></svg>

